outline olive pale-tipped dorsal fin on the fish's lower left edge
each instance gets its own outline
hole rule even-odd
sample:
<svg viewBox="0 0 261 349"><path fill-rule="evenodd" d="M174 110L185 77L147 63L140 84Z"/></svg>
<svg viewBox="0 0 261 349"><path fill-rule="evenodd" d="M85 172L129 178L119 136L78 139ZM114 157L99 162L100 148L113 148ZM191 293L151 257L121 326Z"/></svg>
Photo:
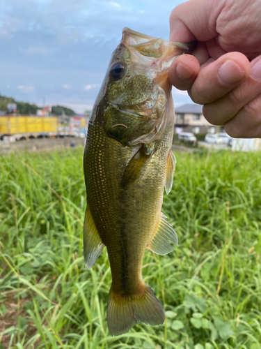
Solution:
<svg viewBox="0 0 261 349"><path fill-rule="evenodd" d="M89 205L87 205L84 219L84 262L87 269L95 265L102 248L104 248L104 244L97 232Z"/></svg>

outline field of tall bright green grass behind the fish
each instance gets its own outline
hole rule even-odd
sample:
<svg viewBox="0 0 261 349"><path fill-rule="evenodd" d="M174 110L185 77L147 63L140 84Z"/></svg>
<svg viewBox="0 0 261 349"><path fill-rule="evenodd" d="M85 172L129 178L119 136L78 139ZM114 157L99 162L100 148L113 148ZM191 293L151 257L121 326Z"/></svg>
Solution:
<svg viewBox="0 0 261 349"><path fill-rule="evenodd" d="M260 153L175 154L180 246L143 260L166 322L113 337L106 248L84 267L82 152L0 157L0 349L261 349Z"/></svg>

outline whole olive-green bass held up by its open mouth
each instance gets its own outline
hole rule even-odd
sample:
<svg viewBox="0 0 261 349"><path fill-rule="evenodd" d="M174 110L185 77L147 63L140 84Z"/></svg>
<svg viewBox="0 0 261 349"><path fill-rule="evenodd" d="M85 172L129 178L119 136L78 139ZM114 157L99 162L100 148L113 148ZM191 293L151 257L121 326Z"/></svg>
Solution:
<svg viewBox="0 0 261 349"><path fill-rule="evenodd" d="M84 260L93 267L106 246L111 267L107 323L111 335L136 322L160 325L164 309L142 279L145 249L165 255L177 235L161 213L171 191L174 106L168 68L182 43L125 28L88 124L84 151L87 209Z"/></svg>

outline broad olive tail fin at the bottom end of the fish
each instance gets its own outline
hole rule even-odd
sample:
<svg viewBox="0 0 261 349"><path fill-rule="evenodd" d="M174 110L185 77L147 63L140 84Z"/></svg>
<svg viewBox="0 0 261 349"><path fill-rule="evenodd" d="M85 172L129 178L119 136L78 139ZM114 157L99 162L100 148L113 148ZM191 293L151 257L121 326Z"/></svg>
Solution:
<svg viewBox="0 0 261 349"><path fill-rule="evenodd" d="M161 325L165 320L164 309L152 289L145 285L143 292L122 296L109 292L107 322L112 336L128 332L137 322Z"/></svg>

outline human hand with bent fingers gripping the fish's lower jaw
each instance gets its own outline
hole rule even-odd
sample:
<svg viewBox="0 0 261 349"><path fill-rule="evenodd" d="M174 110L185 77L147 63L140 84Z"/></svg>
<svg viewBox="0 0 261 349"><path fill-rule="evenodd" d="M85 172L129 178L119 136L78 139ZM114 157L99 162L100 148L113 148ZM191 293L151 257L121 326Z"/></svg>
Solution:
<svg viewBox="0 0 261 349"><path fill-rule="evenodd" d="M260 1L190 0L174 8L170 25L171 41L198 40L193 56L173 61L171 83L232 137L260 138Z"/></svg>

